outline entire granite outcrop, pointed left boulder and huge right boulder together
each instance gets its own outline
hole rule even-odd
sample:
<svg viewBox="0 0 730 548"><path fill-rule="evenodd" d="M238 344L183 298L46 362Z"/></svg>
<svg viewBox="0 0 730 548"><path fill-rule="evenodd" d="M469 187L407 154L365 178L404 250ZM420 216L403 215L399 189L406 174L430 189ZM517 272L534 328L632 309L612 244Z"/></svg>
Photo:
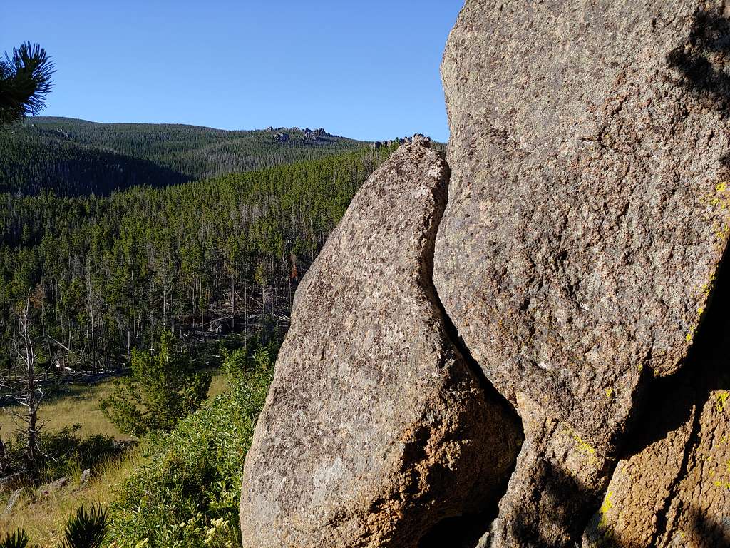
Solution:
<svg viewBox="0 0 730 548"><path fill-rule="evenodd" d="M730 3L466 0L442 76L448 167L297 291L245 547L730 546Z"/></svg>

